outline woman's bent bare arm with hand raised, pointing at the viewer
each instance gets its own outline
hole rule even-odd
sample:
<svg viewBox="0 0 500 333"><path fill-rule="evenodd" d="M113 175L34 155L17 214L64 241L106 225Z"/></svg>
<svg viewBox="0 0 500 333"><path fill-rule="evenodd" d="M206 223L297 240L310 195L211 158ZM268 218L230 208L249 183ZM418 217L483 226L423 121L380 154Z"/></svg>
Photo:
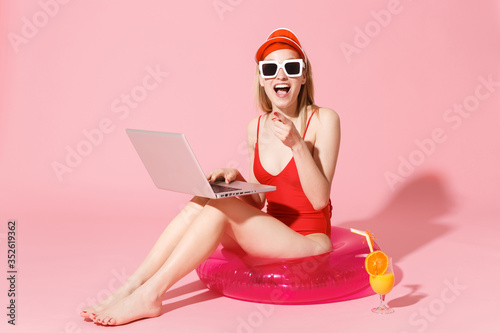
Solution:
<svg viewBox="0 0 500 333"><path fill-rule="evenodd" d="M317 111L316 119L313 119L316 122L316 138L312 154L308 143L302 140L293 123L282 114L277 113L275 116L276 135L292 150L306 197L314 209L324 208L330 199L340 147L340 119L337 113L326 108Z"/></svg>

